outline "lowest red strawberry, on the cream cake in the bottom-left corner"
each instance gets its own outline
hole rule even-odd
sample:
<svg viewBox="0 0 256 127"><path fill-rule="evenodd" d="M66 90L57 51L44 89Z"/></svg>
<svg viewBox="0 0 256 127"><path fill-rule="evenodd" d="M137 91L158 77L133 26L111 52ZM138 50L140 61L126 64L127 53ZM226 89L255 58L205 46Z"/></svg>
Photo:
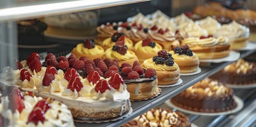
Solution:
<svg viewBox="0 0 256 127"><path fill-rule="evenodd" d="M45 112L41 108L34 108L33 111L29 114L27 123L33 122L37 125L39 121L42 123L45 121Z"/></svg>

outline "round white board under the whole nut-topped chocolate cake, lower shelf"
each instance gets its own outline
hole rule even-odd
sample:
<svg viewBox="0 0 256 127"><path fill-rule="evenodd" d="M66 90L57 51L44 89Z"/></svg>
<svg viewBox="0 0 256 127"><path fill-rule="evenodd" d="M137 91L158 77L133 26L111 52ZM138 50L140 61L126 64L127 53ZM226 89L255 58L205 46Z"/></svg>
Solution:
<svg viewBox="0 0 256 127"><path fill-rule="evenodd" d="M191 111L188 109L184 109L182 107L178 107L177 105L174 105L170 100L164 102L166 105L168 105L169 107L172 107L174 109L177 109L181 112L185 112L185 113L189 113L189 114L194 114L194 115L202 115L202 116L220 116L220 115L227 115L227 114L232 114L235 112L240 111L243 106L244 106L244 102L242 99L240 99L238 96L234 96L234 101L236 102L237 106L236 108L229 110L229 111L225 111L225 112L195 112L195 111Z"/></svg>

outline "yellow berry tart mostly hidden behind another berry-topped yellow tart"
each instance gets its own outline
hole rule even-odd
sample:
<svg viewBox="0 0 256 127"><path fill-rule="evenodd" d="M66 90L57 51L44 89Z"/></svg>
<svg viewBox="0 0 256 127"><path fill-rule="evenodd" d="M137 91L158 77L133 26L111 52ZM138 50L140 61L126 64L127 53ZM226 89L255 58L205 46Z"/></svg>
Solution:
<svg viewBox="0 0 256 127"><path fill-rule="evenodd" d="M114 33L111 37L105 39L102 42L102 47L104 50L107 50L108 48L112 48L113 46L116 45L116 42L118 41L124 41L124 44L130 49L133 49L133 43L132 40L127 38L124 33Z"/></svg>

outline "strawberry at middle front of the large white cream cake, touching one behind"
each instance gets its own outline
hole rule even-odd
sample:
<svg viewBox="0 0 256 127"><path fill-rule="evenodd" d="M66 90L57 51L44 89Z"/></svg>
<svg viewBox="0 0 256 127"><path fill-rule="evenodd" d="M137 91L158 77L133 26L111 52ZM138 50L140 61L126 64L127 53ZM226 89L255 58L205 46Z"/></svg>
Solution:
<svg viewBox="0 0 256 127"><path fill-rule="evenodd" d="M68 83L67 88L72 90L73 92L75 89L77 92L79 92L81 88L83 88L83 83L81 79L78 76L76 76L70 79L70 82Z"/></svg>

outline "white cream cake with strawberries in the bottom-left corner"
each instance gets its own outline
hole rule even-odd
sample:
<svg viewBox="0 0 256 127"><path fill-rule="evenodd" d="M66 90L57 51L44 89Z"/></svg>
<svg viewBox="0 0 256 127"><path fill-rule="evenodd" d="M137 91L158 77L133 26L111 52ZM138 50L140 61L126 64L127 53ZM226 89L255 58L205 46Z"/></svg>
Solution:
<svg viewBox="0 0 256 127"><path fill-rule="evenodd" d="M65 104L50 98L36 97L32 92L23 94L13 86L9 93L9 96L1 97L1 126L74 127L72 114Z"/></svg>

